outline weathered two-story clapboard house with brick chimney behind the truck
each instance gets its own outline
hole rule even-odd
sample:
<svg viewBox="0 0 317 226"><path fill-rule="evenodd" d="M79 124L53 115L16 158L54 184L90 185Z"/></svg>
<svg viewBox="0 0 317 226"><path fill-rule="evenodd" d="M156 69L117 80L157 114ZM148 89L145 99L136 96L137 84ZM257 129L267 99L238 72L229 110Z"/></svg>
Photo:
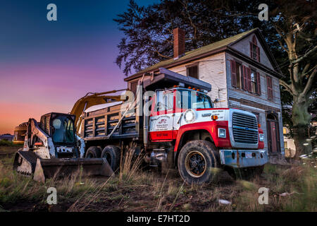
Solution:
<svg viewBox="0 0 317 226"><path fill-rule="evenodd" d="M214 107L256 114L265 134L270 160L284 155L280 103L280 69L258 28L185 52L185 32L173 30L174 56L135 73L125 81L135 92L139 80L163 67L211 83Z"/></svg>

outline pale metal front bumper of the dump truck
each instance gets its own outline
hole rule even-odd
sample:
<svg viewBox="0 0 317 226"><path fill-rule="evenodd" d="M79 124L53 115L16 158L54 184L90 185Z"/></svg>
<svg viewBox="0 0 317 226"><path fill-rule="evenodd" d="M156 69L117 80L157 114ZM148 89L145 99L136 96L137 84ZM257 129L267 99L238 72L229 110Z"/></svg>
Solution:
<svg viewBox="0 0 317 226"><path fill-rule="evenodd" d="M235 168L257 167L268 162L266 150L220 150L221 165Z"/></svg>

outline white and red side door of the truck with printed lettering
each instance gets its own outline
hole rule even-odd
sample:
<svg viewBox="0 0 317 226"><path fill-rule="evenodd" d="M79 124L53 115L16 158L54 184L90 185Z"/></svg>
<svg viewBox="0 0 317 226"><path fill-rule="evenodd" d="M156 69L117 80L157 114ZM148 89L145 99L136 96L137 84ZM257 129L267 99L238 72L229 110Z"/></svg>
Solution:
<svg viewBox="0 0 317 226"><path fill-rule="evenodd" d="M173 140L174 92L157 90L149 120L151 141Z"/></svg>

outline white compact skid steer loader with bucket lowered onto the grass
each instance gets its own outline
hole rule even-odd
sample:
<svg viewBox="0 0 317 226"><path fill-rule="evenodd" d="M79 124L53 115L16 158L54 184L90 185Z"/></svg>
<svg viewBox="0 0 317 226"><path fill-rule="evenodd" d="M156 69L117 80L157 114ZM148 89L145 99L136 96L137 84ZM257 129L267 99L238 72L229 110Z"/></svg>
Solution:
<svg viewBox="0 0 317 226"><path fill-rule="evenodd" d="M13 169L43 183L46 178L73 172L111 176L113 170L105 158L83 158L85 142L75 131L73 114L44 114L39 123L29 119L24 145L15 154Z"/></svg>

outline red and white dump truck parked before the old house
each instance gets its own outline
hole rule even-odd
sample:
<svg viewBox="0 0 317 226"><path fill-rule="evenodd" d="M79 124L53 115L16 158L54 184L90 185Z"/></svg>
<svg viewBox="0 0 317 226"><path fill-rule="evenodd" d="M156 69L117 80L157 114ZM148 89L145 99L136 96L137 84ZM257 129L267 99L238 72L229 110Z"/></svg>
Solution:
<svg viewBox="0 0 317 226"><path fill-rule="evenodd" d="M262 172L268 156L256 115L214 108L209 83L167 69L139 85L132 112L120 103L85 113L80 131L85 157L104 157L116 171L120 148L134 142L145 162L177 167L189 184L211 182L214 168L233 176Z"/></svg>

